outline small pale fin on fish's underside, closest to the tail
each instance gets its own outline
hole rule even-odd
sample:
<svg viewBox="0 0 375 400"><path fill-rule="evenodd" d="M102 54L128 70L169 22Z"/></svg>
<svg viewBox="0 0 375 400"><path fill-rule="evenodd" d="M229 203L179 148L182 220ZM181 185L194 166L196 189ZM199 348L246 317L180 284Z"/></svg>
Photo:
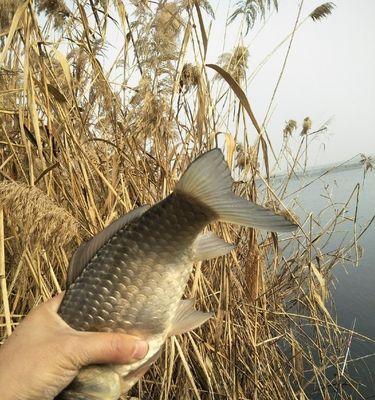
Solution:
<svg viewBox="0 0 375 400"><path fill-rule="evenodd" d="M232 251L236 246L220 239L212 232L199 235L193 244L195 261L208 260L223 256Z"/></svg>

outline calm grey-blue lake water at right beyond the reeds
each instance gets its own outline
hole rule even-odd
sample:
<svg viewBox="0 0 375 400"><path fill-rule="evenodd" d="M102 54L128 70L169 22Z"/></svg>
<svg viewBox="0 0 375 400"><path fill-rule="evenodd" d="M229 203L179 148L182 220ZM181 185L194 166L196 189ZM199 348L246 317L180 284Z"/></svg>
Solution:
<svg viewBox="0 0 375 400"><path fill-rule="evenodd" d="M288 193L293 193L316 178L317 175L294 178ZM362 168L331 172L298 195L289 197L289 201L296 199L294 210L300 218L310 212L318 214L326 208L320 217L321 221L326 222L334 216L334 210L342 207L358 183L357 232L360 232L375 214L375 171L368 172L364 182ZM328 205L330 207L327 208ZM349 203L345 217L354 217L355 210L356 196ZM341 241L351 240L353 223L348 220L331 237L328 248L334 250ZM356 332L375 340L375 222L360 238L359 244L363 248L363 255L358 267L349 263L335 267L332 295L338 323L348 329L352 329L355 323ZM354 393L353 399L375 399L375 343L353 337L347 368L350 375L360 382L358 390L363 396Z"/></svg>

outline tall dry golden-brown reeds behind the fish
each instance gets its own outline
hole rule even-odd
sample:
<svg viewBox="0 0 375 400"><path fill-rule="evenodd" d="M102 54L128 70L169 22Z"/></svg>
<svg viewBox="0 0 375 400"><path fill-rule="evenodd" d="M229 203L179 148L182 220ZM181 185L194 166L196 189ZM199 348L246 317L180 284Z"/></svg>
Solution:
<svg viewBox="0 0 375 400"><path fill-rule="evenodd" d="M280 127L276 165L288 174L274 186L272 143L245 94L248 50L205 65L207 1L0 0L0 10L1 341L63 290L79 243L165 197L207 149L223 149L239 194L295 218L288 185L305 168L311 120L297 153L288 146L297 123ZM355 216L353 239L327 246L357 192L328 205L328 223L309 214L293 236L213 226L237 250L195 265L186 296L215 317L172 338L131 395L361 398L343 365L353 332L328 306L333 268L360 257Z"/></svg>

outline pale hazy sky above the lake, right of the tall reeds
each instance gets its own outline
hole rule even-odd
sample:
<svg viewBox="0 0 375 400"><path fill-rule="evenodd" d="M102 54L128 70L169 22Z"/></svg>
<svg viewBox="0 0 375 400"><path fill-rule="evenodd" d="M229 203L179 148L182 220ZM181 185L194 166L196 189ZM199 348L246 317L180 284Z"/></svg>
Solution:
<svg viewBox="0 0 375 400"><path fill-rule="evenodd" d="M292 30L299 1L280 0L279 12L258 24L243 38L250 51L249 74ZM284 78L268 125L271 140L282 141L286 120L302 123L309 116L313 129L327 120L328 133L313 148L312 164L341 161L357 153L375 153L375 1L335 1L332 15L311 19L297 31ZM235 2L212 1L216 19L209 39L207 62L223 52L223 21ZM305 0L302 19L322 1ZM224 50L239 39L240 21L229 26ZM262 28L262 29L260 29ZM220 40L214 40L220 38ZM263 121L286 53L287 44L273 55L249 84L247 94L259 121Z"/></svg>

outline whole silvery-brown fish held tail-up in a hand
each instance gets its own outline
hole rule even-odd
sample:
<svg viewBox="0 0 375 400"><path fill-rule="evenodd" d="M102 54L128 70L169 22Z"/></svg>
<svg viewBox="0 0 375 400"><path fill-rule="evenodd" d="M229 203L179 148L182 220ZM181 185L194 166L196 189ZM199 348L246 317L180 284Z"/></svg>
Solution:
<svg viewBox="0 0 375 400"><path fill-rule="evenodd" d="M213 232L223 221L272 232L297 228L284 216L236 196L220 149L196 158L174 191L152 207L123 215L83 243L70 261L58 310L79 331L122 332L144 339L149 350L130 365L91 365L56 399L117 400L159 357L166 340L213 317L182 299L197 261L226 255L235 246Z"/></svg>

